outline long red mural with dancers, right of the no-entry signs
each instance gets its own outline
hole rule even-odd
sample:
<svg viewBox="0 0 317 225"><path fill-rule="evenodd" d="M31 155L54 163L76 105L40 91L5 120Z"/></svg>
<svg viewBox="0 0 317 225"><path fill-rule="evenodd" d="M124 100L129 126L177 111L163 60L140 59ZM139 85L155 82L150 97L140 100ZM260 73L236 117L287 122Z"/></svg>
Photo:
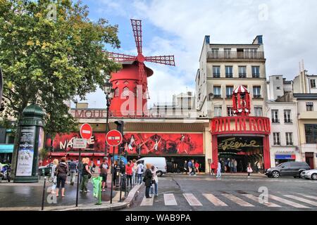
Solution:
<svg viewBox="0 0 317 225"><path fill-rule="evenodd" d="M203 155L203 134L128 133L123 137L128 154Z"/></svg>

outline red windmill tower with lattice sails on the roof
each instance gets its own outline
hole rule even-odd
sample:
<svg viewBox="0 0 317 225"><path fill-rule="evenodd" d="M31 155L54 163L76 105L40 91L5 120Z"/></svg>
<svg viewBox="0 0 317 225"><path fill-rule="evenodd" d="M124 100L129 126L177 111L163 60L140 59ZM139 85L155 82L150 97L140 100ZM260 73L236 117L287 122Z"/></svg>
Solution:
<svg viewBox="0 0 317 225"><path fill-rule="evenodd" d="M174 56L143 56L141 20L131 20L131 25L137 56L108 52L109 58L123 63L123 69L113 72L110 80L115 90L110 111L111 115L116 117L147 115L147 77L153 75L153 70L144 65L145 61L175 66Z"/></svg>

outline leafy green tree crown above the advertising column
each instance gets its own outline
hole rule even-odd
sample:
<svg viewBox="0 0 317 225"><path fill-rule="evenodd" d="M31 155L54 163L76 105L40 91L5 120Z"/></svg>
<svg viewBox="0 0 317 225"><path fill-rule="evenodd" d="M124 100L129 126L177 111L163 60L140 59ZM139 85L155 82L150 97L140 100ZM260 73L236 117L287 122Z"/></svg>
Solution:
<svg viewBox="0 0 317 225"><path fill-rule="evenodd" d="M55 10L56 9L56 10ZM102 87L120 69L104 53L120 47L118 25L88 18L81 1L0 0L0 67L4 73L4 120L22 117L37 103L46 113L46 133L69 132L75 118L65 101Z"/></svg>

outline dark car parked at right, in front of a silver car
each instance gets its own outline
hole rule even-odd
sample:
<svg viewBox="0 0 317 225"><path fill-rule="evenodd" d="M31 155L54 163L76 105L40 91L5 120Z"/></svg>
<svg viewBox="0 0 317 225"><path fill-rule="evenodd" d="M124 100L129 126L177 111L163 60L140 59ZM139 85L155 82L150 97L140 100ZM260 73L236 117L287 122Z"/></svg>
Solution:
<svg viewBox="0 0 317 225"><path fill-rule="evenodd" d="M294 176L300 178L304 170L310 169L306 162L284 162L277 167L266 169L266 176L278 178L279 176Z"/></svg>

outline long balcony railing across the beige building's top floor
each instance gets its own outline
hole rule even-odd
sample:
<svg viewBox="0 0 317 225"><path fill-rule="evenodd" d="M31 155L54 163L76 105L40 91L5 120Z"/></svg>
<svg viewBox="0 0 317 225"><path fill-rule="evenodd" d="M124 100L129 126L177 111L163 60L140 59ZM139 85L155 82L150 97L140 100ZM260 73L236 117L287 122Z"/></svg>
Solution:
<svg viewBox="0 0 317 225"><path fill-rule="evenodd" d="M208 52L208 59L264 59L264 52L257 51L257 52L225 52L225 51L218 51Z"/></svg>

